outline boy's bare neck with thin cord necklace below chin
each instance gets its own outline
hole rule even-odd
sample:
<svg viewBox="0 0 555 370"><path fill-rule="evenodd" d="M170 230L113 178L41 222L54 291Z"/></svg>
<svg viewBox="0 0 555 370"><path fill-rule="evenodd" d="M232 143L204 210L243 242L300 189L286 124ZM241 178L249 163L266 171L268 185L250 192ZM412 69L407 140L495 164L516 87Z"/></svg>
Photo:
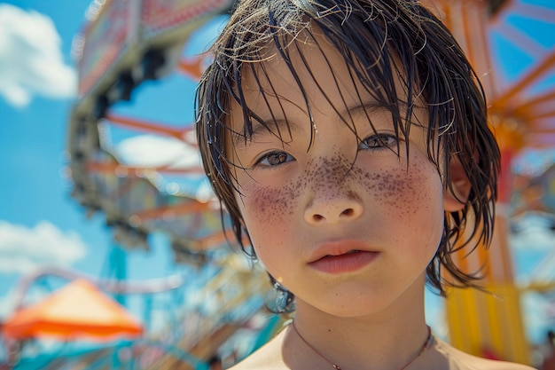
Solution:
<svg viewBox="0 0 555 370"><path fill-rule="evenodd" d="M428 336L424 304L406 307L403 312L389 308L387 313L344 318L298 301L295 325L304 340L290 328L284 357L293 369L333 370L335 364L342 370L400 370L418 355Z"/></svg>

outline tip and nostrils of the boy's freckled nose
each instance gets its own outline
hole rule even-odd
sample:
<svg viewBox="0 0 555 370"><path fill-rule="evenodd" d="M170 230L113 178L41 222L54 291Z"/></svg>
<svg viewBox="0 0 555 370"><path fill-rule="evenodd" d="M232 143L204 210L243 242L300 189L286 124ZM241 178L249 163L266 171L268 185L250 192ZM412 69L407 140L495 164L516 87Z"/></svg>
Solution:
<svg viewBox="0 0 555 370"><path fill-rule="evenodd" d="M308 224L318 226L354 221L363 214L362 201L354 193L313 199L304 212Z"/></svg>

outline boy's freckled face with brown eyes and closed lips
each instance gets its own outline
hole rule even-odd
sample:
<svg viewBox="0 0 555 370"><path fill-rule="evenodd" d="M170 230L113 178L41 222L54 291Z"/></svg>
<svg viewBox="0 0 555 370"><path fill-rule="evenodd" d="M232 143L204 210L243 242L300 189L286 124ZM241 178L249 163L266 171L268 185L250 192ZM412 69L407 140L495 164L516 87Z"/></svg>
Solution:
<svg viewBox="0 0 555 370"><path fill-rule="evenodd" d="M312 75L290 48L316 131L298 84L276 57L264 62L270 81L260 82L263 95L253 75L243 77L247 105L274 133L254 123L252 140L228 140L229 157L246 168L232 171L256 255L296 296L297 310L358 316L422 294L442 238L443 186L427 157L426 132L413 126L397 146L390 112L319 41L324 54L301 46ZM427 122L424 108L414 114ZM231 129L243 132L243 124L241 108L231 106Z"/></svg>

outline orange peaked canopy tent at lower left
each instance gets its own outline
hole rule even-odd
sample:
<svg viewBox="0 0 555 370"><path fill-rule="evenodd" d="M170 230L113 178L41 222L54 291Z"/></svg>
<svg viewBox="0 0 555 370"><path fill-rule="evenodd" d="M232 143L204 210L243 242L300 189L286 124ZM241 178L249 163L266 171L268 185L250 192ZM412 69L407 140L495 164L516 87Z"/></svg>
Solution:
<svg viewBox="0 0 555 370"><path fill-rule="evenodd" d="M84 279L74 280L42 302L15 311L2 324L6 338L54 337L112 340L143 333L137 319Z"/></svg>

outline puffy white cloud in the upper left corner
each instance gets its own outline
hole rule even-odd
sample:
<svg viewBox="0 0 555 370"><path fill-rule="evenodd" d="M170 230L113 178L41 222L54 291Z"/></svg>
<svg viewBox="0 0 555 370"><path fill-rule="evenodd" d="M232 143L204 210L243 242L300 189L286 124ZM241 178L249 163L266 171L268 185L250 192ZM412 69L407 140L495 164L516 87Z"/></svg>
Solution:
<svg viewBox="0 0 555 370"><path fill-rule="evenodd" d="M76 74L64 63L60 46L49 17L0 4L0 95L19 107L35 94L74 97Z"/></svg>

